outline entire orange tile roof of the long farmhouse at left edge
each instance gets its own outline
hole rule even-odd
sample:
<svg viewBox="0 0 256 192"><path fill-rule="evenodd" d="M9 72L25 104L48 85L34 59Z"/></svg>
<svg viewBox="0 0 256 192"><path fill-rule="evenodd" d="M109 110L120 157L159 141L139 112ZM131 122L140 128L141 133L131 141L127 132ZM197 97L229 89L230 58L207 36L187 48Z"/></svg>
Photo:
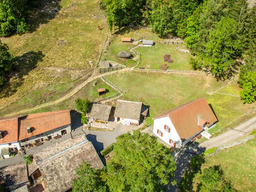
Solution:
<svg viewBox="0 0 256 192"><path fill-rule="evenodd" d="M19 131L17 122L19 124ZM20 141L68 124L71 124L70 110L0 117L0 131L3 131L3 139L0 139L0 144L17 142L18 134L18 140ZM32 128L31 134L27 132L28 126Z"/></svg>

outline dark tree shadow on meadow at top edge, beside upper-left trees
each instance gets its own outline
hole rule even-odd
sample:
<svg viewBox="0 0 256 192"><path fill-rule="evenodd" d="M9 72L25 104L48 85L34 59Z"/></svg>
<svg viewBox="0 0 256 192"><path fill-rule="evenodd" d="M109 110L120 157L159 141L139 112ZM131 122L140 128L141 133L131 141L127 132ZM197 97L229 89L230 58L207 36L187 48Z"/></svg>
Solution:
<svg viewBox="0 0 256 192"><path fill-rule="evenodd" d="M36 0L28 3L28 23L31 25L29 33L36 31L41 24L48 23L55 18L61 9L61 0Z"/></svg>

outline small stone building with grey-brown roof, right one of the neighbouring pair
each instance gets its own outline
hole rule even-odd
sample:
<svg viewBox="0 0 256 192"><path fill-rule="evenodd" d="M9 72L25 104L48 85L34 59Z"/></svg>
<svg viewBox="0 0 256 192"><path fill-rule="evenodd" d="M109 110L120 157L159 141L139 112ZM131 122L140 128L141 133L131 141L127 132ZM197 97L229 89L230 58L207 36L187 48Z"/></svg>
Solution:
<svg viewBox="0 0 256 192"><path fill-rule="evenodd" d="M142 102L117 100L115 121L121 121L124 125L140 125L140 122L147 116L148 110Z"/></svg>

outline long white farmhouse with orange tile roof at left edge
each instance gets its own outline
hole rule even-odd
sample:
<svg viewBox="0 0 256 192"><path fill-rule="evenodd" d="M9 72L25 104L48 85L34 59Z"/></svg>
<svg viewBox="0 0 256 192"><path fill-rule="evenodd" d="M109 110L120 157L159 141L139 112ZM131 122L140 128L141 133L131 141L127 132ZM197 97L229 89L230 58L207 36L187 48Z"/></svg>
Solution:
<svg viewBox="0 0 256 192"><path fill-rule="evenodd" d="M71 132L70 110L0 118L0 150L21 150Z"/></svg>

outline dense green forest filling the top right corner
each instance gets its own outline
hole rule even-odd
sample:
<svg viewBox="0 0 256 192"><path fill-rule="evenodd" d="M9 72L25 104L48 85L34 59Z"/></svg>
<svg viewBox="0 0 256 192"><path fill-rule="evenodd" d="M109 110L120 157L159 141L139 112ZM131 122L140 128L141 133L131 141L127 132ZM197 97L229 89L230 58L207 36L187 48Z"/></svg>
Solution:
<svg viewBox="0 0 256 192"><path fill-rule="evenodd" d="M110 31L130 23L148 26L159 37L184 39L194 70L218 80L233 78L244 103L256 98L256 7L245 0L102 0Z"/></svg>

